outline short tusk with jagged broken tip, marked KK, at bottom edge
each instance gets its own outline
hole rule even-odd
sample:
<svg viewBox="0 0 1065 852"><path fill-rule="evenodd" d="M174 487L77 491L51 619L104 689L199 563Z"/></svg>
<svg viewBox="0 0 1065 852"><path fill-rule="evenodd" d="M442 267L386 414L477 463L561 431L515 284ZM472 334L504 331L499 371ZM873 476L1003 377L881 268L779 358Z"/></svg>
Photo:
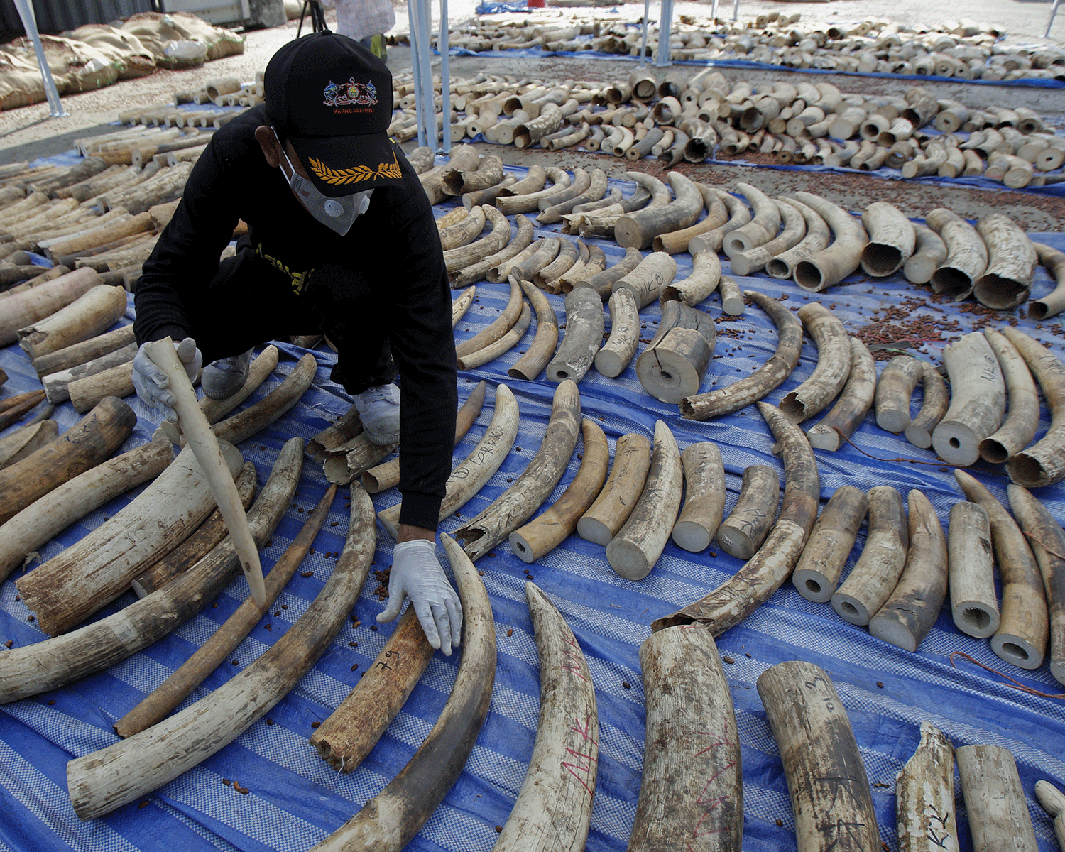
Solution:
<svg viewBox="0 0 1065 852"><path fill-rule="evenodd" d="M954 818L954 747L938 727L921 722L921 739L895 780L899 848L903 852L960 852Z"/></svg>

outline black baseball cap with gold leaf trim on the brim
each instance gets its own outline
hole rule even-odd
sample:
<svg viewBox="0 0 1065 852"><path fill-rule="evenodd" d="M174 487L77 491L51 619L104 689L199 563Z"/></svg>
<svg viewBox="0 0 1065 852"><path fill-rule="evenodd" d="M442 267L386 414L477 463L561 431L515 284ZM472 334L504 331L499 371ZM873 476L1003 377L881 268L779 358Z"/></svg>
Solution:
<svg viewBox="0 0 1065 852"><path fill-rule="evenodd" d="M289 42L266 65L266 115L329 196L403 182L389 140L392 72L353 38L329 31Z"/></svg>

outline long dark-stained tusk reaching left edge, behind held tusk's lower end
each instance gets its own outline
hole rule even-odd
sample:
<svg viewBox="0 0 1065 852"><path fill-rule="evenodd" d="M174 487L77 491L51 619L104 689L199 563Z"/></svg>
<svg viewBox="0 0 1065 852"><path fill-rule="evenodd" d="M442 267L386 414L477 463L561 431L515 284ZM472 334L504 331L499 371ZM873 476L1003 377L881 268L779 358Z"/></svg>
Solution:
<svg viewBox="0 0 1065 852"><path fill-rule="evenodd" d="M161 442L160 442L161 443ZM251 507L248 522L264 543L284 517L299 481L302 441L290 439ZM169 447L167 447L169 452ZM229 585L236 551L223 541L210 554L162 589L117 612L54 639L10 651L0 658L0 703L59 689L103 671L177 629Z"/></svg>

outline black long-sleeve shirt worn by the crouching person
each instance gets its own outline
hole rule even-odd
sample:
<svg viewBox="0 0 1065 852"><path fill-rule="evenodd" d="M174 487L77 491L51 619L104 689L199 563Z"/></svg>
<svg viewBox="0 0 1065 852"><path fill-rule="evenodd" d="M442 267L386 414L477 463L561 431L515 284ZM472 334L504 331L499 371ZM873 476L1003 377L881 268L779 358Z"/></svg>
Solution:
<svg viewBox="0 0 1065 852"><path fill-rule="evenodd" d="M328 291L326 310L348 309L341 311L340 328L330 317L330 340L340 339L333 342L341 351L345 337L355 340L367 325L383 325L403 387L399 520L436 529L458 394L450 291L432 208L396 147L403 185L376 189L370 210L341 236L316 222L266 162L255 137L260 125L268 125L261 105L218 130L193 168L137 282L137 342L187 337L190 316L211 310L204 293L243 219L250 245L291 277L295 291L309 298ZM233 354L220 340L197 345L206 361Z"/></svg>

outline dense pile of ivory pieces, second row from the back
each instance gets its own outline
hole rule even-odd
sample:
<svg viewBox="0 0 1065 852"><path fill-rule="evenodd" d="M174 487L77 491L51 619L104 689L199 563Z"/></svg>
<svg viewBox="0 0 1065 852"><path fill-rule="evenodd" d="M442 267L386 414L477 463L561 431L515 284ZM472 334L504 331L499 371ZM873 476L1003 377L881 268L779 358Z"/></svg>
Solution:
<svg viewBox="0 0 1065 852"><path fill-rule="evenodd" d="M413 83L399 78L394 92L403 112L390 132L405 141L416 133ZM1020 189L1058 182L1061 175L1047 173L1065 162L1065 136L1033 111L968 108L921 86L901 97L806 82L756 92L746 81L730 84L719 71L690 80L673 72L656 83L637 70L607 85L478 75L453 82L450 96L453 142L480 133L519 148L580 146L669 165L757 151L782 164L889 167L906 178L983 176ZM441 104L437 94L442 132Z"/></svg>

